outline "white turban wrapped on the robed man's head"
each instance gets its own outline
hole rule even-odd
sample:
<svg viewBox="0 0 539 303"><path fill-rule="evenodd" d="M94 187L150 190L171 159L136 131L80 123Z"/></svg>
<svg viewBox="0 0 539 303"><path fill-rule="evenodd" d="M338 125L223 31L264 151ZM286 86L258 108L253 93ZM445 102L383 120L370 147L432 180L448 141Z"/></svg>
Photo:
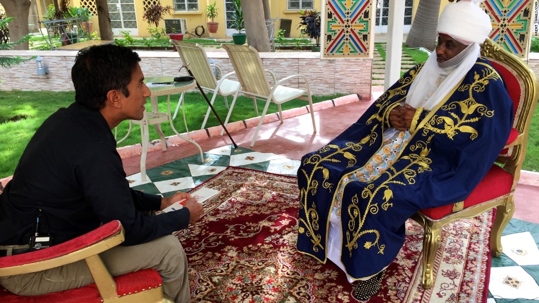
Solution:
<svg viewBox="0 0 539 303"><path fill-rule="evenodd" d="M438 20L438 34L446 34L469 45L481 44L492 31L490 17L479 7L482 0L447 4Z"/></svg>

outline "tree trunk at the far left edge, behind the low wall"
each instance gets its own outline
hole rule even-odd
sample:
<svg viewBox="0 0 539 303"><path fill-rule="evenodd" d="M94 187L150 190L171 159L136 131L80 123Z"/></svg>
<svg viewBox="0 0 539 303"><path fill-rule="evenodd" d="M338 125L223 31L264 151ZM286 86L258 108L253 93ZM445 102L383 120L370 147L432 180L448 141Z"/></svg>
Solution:
<svg viewBox="0 0 539 303"><path fill-rule="evenodd" d="M4 6L7 17L15 17L8 23L9 40L15 42L28 34L28 13L30 12L30 0L0 0ZM28 50L28 41L13 46L13 50Z"/></svg>

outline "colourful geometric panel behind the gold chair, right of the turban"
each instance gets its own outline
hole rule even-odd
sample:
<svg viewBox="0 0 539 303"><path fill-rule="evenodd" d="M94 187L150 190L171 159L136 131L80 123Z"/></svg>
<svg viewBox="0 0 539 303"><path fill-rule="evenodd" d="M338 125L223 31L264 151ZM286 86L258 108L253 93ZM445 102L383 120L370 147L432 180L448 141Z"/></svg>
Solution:
<svg viewBox="0 0 539 303"><path fill-rule="evenodd" d="M481 6L490 16L490 39L520 58L528 57L533 0L486 0Z"/></svg>

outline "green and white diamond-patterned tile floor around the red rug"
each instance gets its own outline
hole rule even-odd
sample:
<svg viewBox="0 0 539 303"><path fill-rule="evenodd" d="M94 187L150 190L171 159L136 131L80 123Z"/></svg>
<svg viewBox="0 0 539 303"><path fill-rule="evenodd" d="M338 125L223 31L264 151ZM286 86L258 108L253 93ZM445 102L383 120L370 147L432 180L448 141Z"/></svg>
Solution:
<svg viewBox="0 0 539 303"><path fill-rule="evenodd" d="M169 196L189 191L229 165L295 175L299 164L298 160L277 154L229 145L205 152L203 164L195 154L147 170L145 182L141 182L140 173L128 176L127 180L134 189ZM492 258L487 303L539 303L539 224L512 219L503 232L502 245L502 255Z"/></svg>

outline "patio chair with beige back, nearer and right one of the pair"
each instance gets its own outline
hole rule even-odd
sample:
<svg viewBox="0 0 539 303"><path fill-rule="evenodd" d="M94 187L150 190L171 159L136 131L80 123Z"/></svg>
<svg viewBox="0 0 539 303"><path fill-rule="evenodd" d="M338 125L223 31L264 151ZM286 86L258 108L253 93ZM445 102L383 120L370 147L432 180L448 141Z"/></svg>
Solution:
<svg viewBox="0 0 539 303"><path fill-rule="evenodd" d="M262 110L262 115L260 116L257 129L255 130L253 139L251 140L251 147L254 146L254 142L257 139L258 131L260 130L260 126L262 125L262 121L264 120L264 116L266 115L270 102L277 104L277 107L279 108L279 118L281 119L281 123L283 123L284 121L282 119L281 111L282 103L293 99L308 101L310 116L313 120L313 131L316 132L313 100L310 94L309 81L305 76L296 74L287 76L277 81L277 79L275 79L275 75L271 71L264 69L258 51L252 46L233 44L222 44L221 46L229 54L229 60L232 62L234 71L236 71L236 76L241 84L239 92L245 94L247 97L253 98L254 103L256 103L257 99L266 101L266 105L264 106L264 110ZM273 83L275 83L274 86L269 85L266 72L272 76ZM281 85L281 83L296 77L299 77L305 81L305 89L291 88ZM229 122L230 115L234 109L234 103L236 103L236 99L234 99L230 105L229 114L226 116L224 123L225 126ZM221 135L223 135L223 131L221 131Z"/></svg>

